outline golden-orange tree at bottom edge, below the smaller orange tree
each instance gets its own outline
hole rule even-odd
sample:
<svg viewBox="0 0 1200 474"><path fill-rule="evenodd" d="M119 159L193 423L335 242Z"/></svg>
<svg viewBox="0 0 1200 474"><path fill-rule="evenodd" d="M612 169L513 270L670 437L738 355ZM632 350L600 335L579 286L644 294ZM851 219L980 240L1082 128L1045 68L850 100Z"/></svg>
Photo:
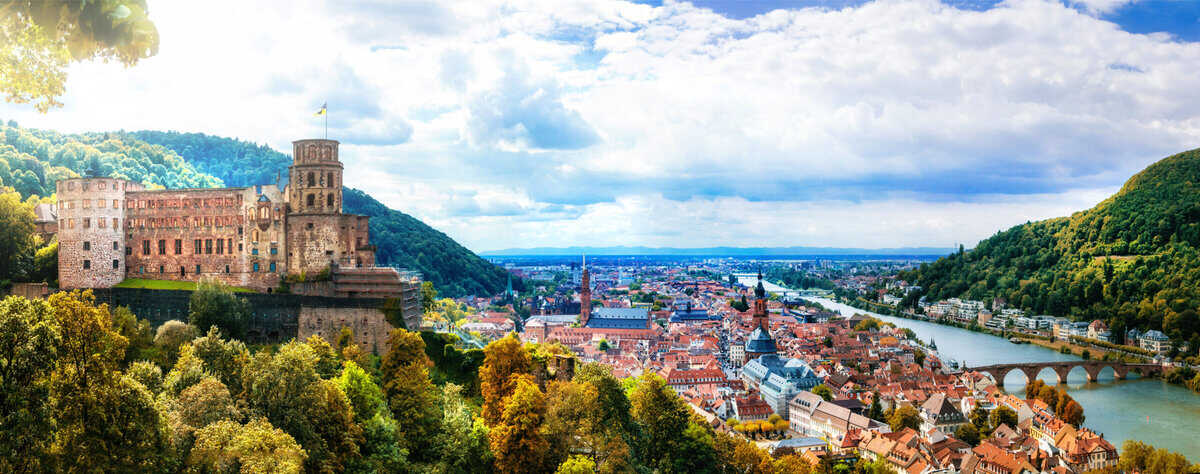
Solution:
<svg viewBox="0 0 1200 474"><path fill-rule="evenodd" d="M504 473L542 473L550 443L541 427L546 398L528 374L515 377L516 388L505 397L500 419L488 432L496 468Z"/></svg>

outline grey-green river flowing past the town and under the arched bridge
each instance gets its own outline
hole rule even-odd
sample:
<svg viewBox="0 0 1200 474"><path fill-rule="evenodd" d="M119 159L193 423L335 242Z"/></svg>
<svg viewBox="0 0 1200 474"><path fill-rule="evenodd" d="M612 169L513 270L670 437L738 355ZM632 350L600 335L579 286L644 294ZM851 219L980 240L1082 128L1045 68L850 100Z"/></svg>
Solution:
<svg viewBox="0 0 1200 474"><path fill-rule="evenodd" d="M823 298L812 300L844 316L865 313L912 329L926 343L932 338L942 358L955 359L968 367L1079 360L1040 346L1013 344L1002 337L966 329L878 314ZM1042 371L1038 378L1049 384L1058 382L1049 368ZM1004 386L1015 394L1024 392L1025 374L1021 371L1009 372ZM1139 379L1133 373L1126 380L1114 380L1112 370L1104 370L1098 382L1087 383L1082 368L1072 371L1067 377L1067 390L1084 406L1084 426L1104 433L1118 449L1126 439L1139 439L1180 452L1192 462L1200 461L1200 395L1160 379Z"/></svg>

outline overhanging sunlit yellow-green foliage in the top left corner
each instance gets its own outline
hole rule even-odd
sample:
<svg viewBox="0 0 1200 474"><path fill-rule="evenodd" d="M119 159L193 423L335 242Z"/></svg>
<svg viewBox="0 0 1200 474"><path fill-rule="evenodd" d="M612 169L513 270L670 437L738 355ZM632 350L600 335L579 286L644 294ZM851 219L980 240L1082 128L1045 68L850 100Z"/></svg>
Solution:
<svg viewBox="0 0 1200 474"><path fill-rule="evenodd" d="M8 2L0 18L0 92L8 102L61 107L71 61L116 60L133 66L158 50L158 30L144 0Z"/></svg>

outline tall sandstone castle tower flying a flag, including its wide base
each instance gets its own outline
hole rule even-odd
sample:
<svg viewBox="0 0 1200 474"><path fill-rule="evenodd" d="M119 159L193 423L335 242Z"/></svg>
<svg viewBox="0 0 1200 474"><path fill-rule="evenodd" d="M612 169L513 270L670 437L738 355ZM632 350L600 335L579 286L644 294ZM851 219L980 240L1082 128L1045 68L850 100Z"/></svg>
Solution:
<svg viewBox="0 0 1200 474"><path fill-rule="evenodd" d="M342 218L342 162L337 140L292 142L288 168L287 247L289 274L319 274L331 264L355 266L352 236L358 227ZM364 232L365 222L362 224Z"/></svg>

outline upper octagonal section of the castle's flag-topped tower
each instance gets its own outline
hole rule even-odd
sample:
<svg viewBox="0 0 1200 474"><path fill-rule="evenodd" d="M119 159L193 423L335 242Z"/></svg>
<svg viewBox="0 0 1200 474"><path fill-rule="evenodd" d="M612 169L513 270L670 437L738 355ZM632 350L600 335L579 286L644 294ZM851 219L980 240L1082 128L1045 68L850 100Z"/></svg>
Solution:
<svg viewBox="0 0 1200 474"><path fill-rule="evenodd" d="M342 162L337 158L337 140L313 138L292 142L292 146L288 168L292 212L341 214Z"/></svg>

